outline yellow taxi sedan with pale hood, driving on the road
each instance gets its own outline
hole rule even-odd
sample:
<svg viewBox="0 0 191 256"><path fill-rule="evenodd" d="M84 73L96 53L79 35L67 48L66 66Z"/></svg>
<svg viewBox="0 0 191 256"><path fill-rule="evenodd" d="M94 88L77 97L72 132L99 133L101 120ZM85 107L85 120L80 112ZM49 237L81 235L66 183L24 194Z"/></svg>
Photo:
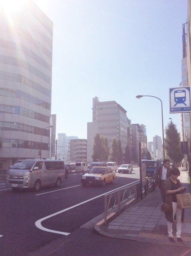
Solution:
<svg viewBox="0 0 191 256"><path fill-rule="evenodd" d="M115 172L109 167L95 166L92 167L88 173L82 176L81 182L83 186L99 184L105 186L106 183L113 183L115 179Z"/></svg>

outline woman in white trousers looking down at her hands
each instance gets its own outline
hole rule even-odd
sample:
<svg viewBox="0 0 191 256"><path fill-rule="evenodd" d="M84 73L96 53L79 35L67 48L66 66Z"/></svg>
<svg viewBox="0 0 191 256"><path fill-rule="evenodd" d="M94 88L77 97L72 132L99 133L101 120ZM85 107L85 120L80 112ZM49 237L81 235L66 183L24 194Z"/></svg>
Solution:
<svg viewBox="0 0 191 256"><path fill-rule="evenodd" d="M167 230L169 234L169 240L173 243L175 243L175 240L173 238L173 220L176 215L176 236L178 242L183 242L181 238L181 226L182 222L184 220L184 210L177 207L177 199L176 194L180 194L183 188L181 186L180 181L177 179L178 176L180 176L180 171L178 168L172 168L171 170L171 176L170 178L167 178L164 182L164 190L165 190L165 203L171 204L173 211L170 213L166 213L166 219L167 219Z"/></svg>

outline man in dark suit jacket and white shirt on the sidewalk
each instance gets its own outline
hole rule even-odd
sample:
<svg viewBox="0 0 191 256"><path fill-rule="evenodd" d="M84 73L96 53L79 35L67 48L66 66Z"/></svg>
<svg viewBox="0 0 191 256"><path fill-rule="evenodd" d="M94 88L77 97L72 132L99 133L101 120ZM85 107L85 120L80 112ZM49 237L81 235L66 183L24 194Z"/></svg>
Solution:
<svg viewBox="0 0 191 256"><path fill-rule="evenodd" d="M159 184L159 188L161 190L161 197L163 203L165 202L165 192L163 188L163 184L167 178L171 176L171 168L170 166L170 160L164 159L163 160L163 166L159 166L155 173L156 182Z"/></svg>

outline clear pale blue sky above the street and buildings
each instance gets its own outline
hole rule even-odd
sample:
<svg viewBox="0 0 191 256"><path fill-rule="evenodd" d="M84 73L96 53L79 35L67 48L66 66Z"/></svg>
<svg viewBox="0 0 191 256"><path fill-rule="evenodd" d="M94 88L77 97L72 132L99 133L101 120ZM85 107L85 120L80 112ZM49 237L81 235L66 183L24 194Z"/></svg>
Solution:
<svg viewBox="0 0 191 256"><path fill-rule="evenodd" d="M181 82L182 24L187 0L34 0L54 23L52 114L56 133L87 138L92 98L115 100L147 141L162 137L169 88Z"/></svg>

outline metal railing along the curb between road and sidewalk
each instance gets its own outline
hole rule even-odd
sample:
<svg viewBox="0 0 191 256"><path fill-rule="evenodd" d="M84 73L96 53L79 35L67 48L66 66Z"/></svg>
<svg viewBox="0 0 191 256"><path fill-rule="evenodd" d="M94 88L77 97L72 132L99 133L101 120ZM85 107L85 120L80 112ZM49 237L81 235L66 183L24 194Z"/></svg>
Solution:
<svg viewBox="0 0 191 256"><path fill-rule="evenodd" d="M118 207L118 213L121 212L121 204L137 198L137 185L140 180L127 184L124 188L104 195L104 224L107 224L107 214Z"/></svg>

